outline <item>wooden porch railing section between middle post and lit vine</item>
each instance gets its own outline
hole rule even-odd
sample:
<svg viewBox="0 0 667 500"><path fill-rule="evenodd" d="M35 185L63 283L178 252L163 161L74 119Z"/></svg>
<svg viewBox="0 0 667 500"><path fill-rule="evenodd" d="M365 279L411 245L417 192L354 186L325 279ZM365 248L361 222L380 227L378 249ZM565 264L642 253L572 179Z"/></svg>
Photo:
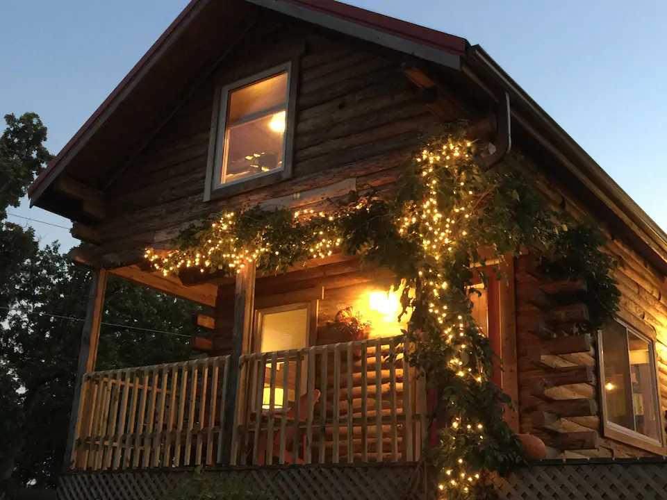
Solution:
<svg viewBox="0 0 667 500"><path fill-rule="evenodd" d="M233 465L411 462L426 432L426 389L403 338L240 359Z"/></svg>

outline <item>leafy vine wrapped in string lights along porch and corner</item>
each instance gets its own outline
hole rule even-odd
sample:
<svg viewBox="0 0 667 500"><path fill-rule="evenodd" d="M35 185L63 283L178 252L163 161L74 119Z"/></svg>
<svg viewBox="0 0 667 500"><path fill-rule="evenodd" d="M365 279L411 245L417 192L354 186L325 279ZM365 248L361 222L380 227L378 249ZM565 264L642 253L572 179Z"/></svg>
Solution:
<svg viewBox="0 0 667 500"><path fill-rule="evenodd" d="M595 292L591 328L616 311L614 261L600 251L604 236L592 224L577 224L547 205L521 158L486 168L464 124L429 139L401 185L393 201L351 193L328 214L223 213L211 227L183 233L179 249L160 255L149 249L146 257L164 274L188 267L234 274L250 263L283 272L342 251L395 272L404 283L403 313L412 309L406 355L438 394L431 423L437 421L440 433L427 460L438 471L443 498L479 499L490 494L479 481L484 471L506 474L523 462L520 441L502 418L512 401L492 381L491 343L471 315L472 280L489 279L479 270L486 263L480 249L500 260L527 249L541 256L545 274L586 279Z"/></svg>

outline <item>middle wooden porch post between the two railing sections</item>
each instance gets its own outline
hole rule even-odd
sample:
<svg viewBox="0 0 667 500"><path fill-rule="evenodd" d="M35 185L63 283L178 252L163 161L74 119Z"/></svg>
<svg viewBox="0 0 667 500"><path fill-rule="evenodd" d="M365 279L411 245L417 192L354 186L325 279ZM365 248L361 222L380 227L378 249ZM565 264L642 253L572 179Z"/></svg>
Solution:
<svg viewBox="0 0 667 500"><path fill-rule="evenodd" d="M231 463L233 450L232 436L236 426L236 408L238 405L238 389L240 367L239 358L242 354L249 353L251 349L252 324L255 302L255 276L256 267L254 263L247 263L239 274L236 275L236 295L234 297L234 326L231 338L231 356L229 373L227 374L227 394L225 394L224 422L226 428L222 462Z"/></svg>

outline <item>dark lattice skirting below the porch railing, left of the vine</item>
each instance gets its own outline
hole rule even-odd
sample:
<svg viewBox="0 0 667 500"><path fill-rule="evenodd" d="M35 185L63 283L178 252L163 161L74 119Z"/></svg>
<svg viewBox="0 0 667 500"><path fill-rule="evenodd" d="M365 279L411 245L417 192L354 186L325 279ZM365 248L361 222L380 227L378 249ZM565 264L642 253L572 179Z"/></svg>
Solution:
<svg viewBox="0 0 667 500"><path fill-rule="evenodd" d="M223 483L254 487L267 500L404 500L415 464L290 466L211 471ZM60 478L60 500L163 500L188 472L80 472Z"/></svg>

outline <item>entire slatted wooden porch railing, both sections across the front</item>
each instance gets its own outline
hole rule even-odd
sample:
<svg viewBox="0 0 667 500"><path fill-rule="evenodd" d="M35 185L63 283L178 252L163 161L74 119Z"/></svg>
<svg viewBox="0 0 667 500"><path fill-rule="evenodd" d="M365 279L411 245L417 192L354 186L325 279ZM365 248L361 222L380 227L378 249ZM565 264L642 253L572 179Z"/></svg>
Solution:
<svg viewBox="0 0 667 500"><path fill-rule="evenodd" d="M426 390L402 342L247 354L236 392L229 356L85 374L71 468L414 462Z"/></svg>

